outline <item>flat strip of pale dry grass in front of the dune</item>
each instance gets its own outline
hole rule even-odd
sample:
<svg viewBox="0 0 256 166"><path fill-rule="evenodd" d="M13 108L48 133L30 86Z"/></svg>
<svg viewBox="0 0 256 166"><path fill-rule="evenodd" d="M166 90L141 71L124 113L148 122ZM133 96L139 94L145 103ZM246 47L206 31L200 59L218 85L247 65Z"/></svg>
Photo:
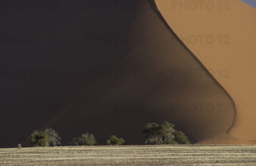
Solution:
<svg viewBox="0 0 256 166"><path fill-rule="evenodd" d="M256 146L62 146L0 149L0 165L256 165Z"/></svg>

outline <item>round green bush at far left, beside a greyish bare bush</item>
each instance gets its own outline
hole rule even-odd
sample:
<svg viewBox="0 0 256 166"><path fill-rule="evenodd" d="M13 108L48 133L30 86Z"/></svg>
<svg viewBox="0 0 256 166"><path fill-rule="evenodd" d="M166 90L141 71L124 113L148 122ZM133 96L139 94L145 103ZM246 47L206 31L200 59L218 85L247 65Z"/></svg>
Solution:
<svg viewBox="0 0 256 166"><path fill-rule="evenodd" d="M37 130L34 130L29 136L29 142L35 147L49 146L46 132L38 132Z"/></svg>

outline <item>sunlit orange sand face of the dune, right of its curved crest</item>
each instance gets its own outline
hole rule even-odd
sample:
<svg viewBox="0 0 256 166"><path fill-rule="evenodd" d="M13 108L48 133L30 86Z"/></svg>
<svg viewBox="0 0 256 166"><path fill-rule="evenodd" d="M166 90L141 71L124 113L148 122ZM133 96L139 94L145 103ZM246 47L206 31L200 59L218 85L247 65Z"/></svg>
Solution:
<svg viewBox="0 0 256 166"><path fill-rule="evenodd" d="M233 98L229 134L256 140L256 9L240 0L194 2L156 0L169 26Z"/></svg>

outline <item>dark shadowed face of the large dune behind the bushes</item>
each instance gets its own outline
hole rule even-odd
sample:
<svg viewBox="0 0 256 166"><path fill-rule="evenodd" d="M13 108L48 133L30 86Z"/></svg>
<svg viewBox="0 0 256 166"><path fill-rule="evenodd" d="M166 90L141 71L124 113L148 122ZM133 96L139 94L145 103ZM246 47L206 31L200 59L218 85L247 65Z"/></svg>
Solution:
<svg viewBox="0 0 256 166"><path fill-rule="evenodd" d="M235 117L233 100L186 46L178 39L172 41L173 33L155 12L154 3L142 1L143 8L136 10L95 10L85 9L85 1L72 2L61 1L61 8L50 13L1 14L3 34L57 34L60 38L58 44L1 46L1 69L59 71L56 78L1 79L1 103L45 106L41 112L3 109L1 137L27 137L33 129L53 127L62 144L86 131L99 143L116 135L125 137L127 144L141 144L145 123L168 120L193 143L209 137L214 142L203 143L251 143L227 135ZM134 1L129 2L134 6ZM87 35L92 34L112 39L126 35L129 41L101 43L89 40ZM173 73L186 69L201 74ZM98 74L93 75L94 70ZM57 103L58 109L49 111L49 103ZM2 142L1 147L16 146Z"/></svg>

